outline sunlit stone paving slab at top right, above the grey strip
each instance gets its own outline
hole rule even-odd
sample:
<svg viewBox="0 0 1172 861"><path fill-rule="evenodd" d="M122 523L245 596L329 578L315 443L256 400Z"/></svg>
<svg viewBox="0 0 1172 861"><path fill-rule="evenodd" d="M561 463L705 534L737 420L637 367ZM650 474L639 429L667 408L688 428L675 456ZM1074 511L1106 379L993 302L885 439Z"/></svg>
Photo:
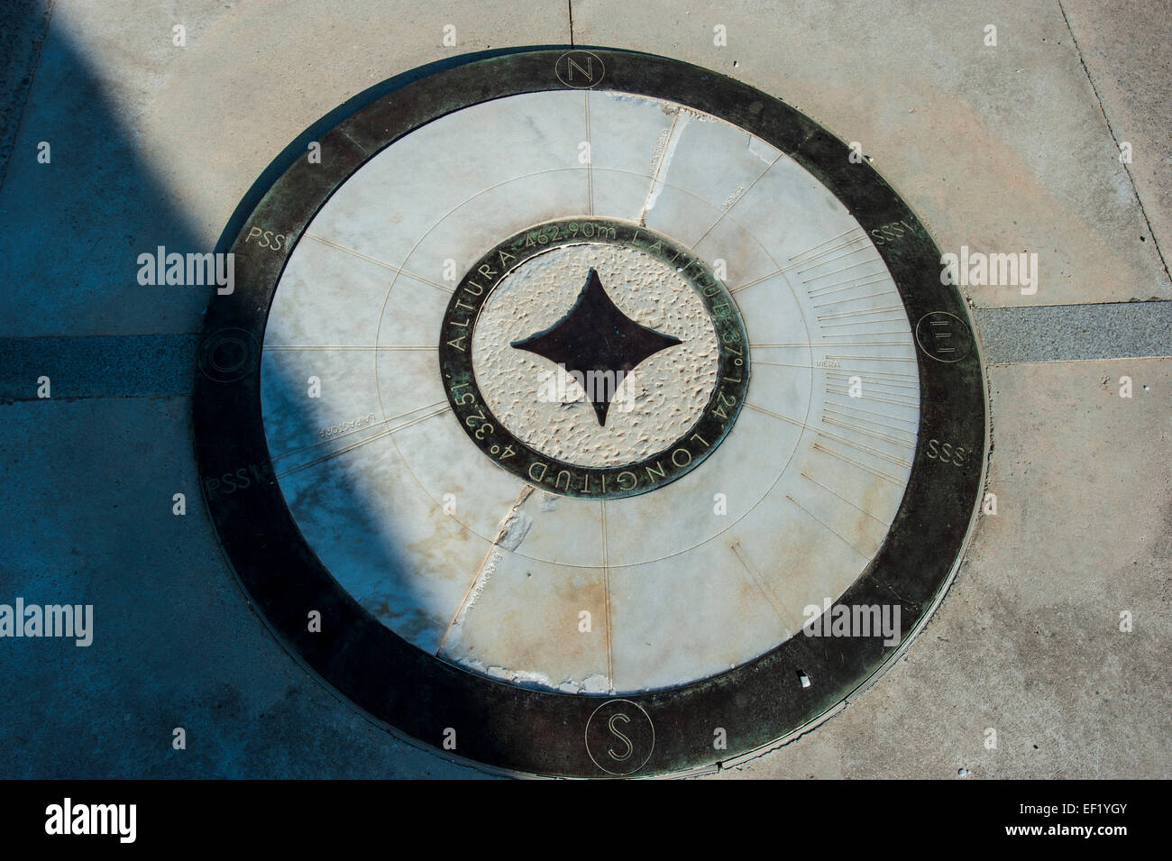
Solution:
<svg viewBox="0 0 1172 861"><path fill-rule="evenodd" d="M1037 254L1036 293L973 287L977 306L1172 298L1057 4L574 0L573 26L578 45L708 67L859 142L941 251ZM1158 63L1131 70L1166 101Z"/></svg>

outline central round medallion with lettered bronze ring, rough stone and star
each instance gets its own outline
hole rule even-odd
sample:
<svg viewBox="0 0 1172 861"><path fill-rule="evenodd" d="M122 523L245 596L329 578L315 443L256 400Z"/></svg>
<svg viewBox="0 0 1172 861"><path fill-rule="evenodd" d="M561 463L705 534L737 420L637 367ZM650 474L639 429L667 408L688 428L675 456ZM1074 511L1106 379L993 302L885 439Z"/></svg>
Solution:
<svg viewBox="0 0 1172 861"><path fill-rule="evenodd" d="M672 282L676 293L656 293ZM663 322L631 319L612 294ZM543 301L568 309L529 322ZM464 432L502 469L551 493L614 499L674 481L725 438L749 387L748 335L728 289L682 246L636 224L561 219L472 266L443 319L440 370Z"/></svg>

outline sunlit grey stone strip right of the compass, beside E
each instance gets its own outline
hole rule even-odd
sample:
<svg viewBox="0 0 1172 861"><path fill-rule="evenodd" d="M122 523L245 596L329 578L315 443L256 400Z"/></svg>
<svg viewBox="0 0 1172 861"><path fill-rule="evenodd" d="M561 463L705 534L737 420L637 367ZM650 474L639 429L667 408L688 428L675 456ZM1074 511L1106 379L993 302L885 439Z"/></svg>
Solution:
<svg viewBox="0 0 1172 861"><path fill-rule="evenodd" d="M992 363L1172 356L1172 302L976 308L973 316Z"/></svg>

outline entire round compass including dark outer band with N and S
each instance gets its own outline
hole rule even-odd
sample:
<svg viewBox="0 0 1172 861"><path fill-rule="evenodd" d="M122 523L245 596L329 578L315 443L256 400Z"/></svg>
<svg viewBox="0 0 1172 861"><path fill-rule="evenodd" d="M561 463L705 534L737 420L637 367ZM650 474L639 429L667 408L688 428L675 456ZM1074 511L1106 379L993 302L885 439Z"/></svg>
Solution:
<svg viewBox="0 0 1172 861"><path fill-rule="evenodd" d="M320 163L291 162L232 246L236 291L209 307L193 397L225 553L306 665L443 756L607 777L752 756L894 660L963 548L984 385L939 248L845 143L710 70L606 49L448 68L320 141ZM486 300L529 258L578 253L585 224L590 242L605 225L604 245L682 269L708 300L711 392L702 362L676 365L704 402L687 429L709 443L700 469L699 449L672 460L691 437L670 422L613 460L543 445L509 410L510 375L483 385L477 314L498 315L497 348L556 355L547 329L506 332L506 306ZM515 259L498 267L502 250ZM497 274L478 281L481 266ZM654 333L632 335L635 357L650 350L636 370L696 336L599 283L611 324ZM464 351L449 346L457 321ZM723 406L730 380L747 388L723 389ZM633 465L642 478L620 483ZM898 609L898 630L805 626L859 607Z"/></svg>

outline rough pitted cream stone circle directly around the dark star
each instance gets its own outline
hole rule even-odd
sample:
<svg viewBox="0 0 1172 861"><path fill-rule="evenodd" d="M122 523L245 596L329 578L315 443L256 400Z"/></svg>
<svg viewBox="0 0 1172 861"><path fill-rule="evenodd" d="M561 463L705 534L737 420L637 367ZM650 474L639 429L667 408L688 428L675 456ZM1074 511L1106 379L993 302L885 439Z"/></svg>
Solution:
<svg viewBox="0 0 1172 861"><path fill-rule="evenodd" d="M611 301L640 326L679 339L624 378L578 377L512 344L559 322L590 269ZM619 466L667 449L700 418L716 385L716 329L695 288L636 248L563 245L509 272L485 300L472 333L472 370L492 415L534 451L580 466ZM614 392L606 424L587 399Z"/></svg>

